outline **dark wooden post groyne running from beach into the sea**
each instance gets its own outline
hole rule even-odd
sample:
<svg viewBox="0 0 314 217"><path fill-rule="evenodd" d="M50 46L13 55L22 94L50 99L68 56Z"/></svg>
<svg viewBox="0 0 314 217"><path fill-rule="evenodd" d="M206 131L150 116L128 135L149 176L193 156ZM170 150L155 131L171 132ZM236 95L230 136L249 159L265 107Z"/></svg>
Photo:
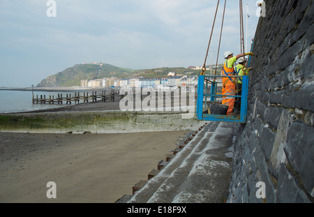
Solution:
<svg viewBox="0 0 314 217"><path fill-rule="evenodd" d="M112 91L111 94L107 94L105 91L102 91L101 94L98 94L97 91L92 91L92 93L80 93L75 92L74 96L73 94L66 94L66 96L63 96L62 93L59 93L56 98L54 96L47 96L46 95L36 95L36 97L33 95L33 104L41 103L41 104L72 104L72 103L80 103L83 101L83 103L96 103L96 102L114 102L115 98L123 98L123 95L115 94L114 91Z"/></svg>

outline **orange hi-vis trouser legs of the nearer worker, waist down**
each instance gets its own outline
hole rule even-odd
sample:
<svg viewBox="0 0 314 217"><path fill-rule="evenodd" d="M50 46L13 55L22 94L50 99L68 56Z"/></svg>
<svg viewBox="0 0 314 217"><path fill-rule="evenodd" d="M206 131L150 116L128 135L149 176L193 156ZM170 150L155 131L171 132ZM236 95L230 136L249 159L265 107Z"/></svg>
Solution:
<svg viewBox="0 0 314 217"><path fill-rule="evenodd" d="M223 77L223 104L229 105L227 115L230 115L232 113L235 103L235 98L228 97L228 95L234 96L235 94L236 88L234 82L232 82L229 77Z"/></svg>

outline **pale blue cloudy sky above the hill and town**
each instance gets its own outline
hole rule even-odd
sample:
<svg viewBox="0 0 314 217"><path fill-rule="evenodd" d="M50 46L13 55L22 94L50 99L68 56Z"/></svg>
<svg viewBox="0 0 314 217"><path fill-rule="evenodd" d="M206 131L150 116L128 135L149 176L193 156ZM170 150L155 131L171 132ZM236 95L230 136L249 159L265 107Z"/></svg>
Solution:
<svg viewBox="0 0 314 217"><path fill-rule="evenodd" d="M203 66L217 2L0 0L0 87L36 86L77 63L133 69ZM243 0L248 47L260 18L257 2ZM216 64L224 3L207 65ZM240 53L239 27L239 1L228 0L218 63L227 50Z"/></svg>

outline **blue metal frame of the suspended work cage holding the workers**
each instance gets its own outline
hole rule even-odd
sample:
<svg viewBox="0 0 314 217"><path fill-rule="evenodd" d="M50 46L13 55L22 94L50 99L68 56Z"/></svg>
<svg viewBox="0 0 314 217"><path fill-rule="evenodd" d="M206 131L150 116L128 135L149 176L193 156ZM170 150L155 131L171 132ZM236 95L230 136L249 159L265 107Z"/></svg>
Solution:
<svg viewBox="0 0 314 217"><path fill-rule="evenodd" d="M240 114L234 115L220 115L220 114L204 114L204 111L207 110L207 98L210 97L211 102L216 102L217 98L223 98L223 95L217 94L218 83L216 82L217 78L222 77L237 77L242 78L242 92L241 96L230 96L234 98L241 98L241 110ZM204 94L204 89L207 92L209 83L211 84L211 94ZM204 84L206 86L204 87ZM224 122L233 122L246 124L247 116L247 107L248 107L248 76L220 76L220 75L200 75L198 77L198 86L197 86L197 119L202 121L224 121Z"/></svg>

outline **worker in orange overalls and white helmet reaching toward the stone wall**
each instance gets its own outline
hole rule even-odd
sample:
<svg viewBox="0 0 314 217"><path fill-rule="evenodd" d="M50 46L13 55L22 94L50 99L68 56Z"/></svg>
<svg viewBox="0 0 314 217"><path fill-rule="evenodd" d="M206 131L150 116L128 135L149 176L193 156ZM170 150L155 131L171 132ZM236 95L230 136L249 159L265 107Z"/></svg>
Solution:
<svg viewBox="0 0 314 217"><path fill-rule="evenodd" d="M240 57L245 57L247 55L253 56L254 54L253 52L248 52L245 54L238 54L236 57L233 57L232 52L230 51L225 52L224 57L226 61L223 64L223 75L225 76L235 75L234 63ZM235 98L232 96L236 95L236 82L237 80L234 77L223 77L223 105L229 105L227 115L230 115L233 112Z"/></svg>

